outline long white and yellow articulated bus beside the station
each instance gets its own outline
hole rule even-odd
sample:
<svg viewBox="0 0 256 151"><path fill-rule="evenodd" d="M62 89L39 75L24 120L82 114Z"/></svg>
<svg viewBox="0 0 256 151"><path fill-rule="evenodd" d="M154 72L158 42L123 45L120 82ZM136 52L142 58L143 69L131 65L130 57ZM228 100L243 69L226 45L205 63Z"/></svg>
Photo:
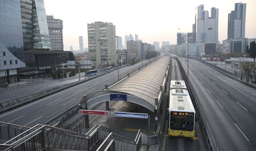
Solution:
<svg viewBox="0 0 256 151"><path fill-rule="evenodd" d="M184 81L171 81L168 110L168 135L194 137L196 112Z"/></svg>

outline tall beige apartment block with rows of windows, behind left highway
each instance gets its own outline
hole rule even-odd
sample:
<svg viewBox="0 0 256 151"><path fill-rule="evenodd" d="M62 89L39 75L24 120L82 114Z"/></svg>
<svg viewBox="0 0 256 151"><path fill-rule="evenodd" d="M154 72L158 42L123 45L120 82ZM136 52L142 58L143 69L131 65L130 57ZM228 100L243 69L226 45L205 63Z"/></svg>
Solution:
<svg viewBox="0 0 256 151"><path fill-rule="evenodd" d="M116 26L111 22L88 23L88 59L92 67L102 67L104 64L116 64Z"/></svg>

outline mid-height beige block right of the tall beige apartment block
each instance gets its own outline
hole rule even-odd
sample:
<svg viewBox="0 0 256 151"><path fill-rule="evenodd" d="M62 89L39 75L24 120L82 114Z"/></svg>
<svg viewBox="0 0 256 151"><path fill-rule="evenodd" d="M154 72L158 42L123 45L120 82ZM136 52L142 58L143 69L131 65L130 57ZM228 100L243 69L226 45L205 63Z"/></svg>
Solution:
<svg viewBox="0 0 256 151"><path fill-rule="evenodd" d="M141 59L141 42L127 41L127 62L131 63L132 61L137 61L140 59Z"/></svg>

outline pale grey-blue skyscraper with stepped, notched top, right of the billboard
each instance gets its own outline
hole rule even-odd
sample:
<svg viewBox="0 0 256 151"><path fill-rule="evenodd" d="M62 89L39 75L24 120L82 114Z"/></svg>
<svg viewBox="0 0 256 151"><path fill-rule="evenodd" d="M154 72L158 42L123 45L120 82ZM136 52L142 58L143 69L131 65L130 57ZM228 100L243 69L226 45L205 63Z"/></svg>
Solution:
<svg viewBox="0 0 256 151"><path fill-rule="evenodd" d="M219 9L211 8L211 17L209 12L204 11L204 5L200 5L195 9L195 26L197 43L218 42L218 23Z"/></svg>

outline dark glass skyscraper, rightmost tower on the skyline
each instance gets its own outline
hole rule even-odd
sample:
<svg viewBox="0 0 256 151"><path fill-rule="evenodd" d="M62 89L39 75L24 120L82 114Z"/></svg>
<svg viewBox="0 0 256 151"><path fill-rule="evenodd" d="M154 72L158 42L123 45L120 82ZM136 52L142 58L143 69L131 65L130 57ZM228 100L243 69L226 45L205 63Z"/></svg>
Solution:
<svg viewBox="0 0 256 151"><path fill-rule="evenodd" d="M235 10L228 14L228 39L245 38L246 3L235 3Z"/></svg>

